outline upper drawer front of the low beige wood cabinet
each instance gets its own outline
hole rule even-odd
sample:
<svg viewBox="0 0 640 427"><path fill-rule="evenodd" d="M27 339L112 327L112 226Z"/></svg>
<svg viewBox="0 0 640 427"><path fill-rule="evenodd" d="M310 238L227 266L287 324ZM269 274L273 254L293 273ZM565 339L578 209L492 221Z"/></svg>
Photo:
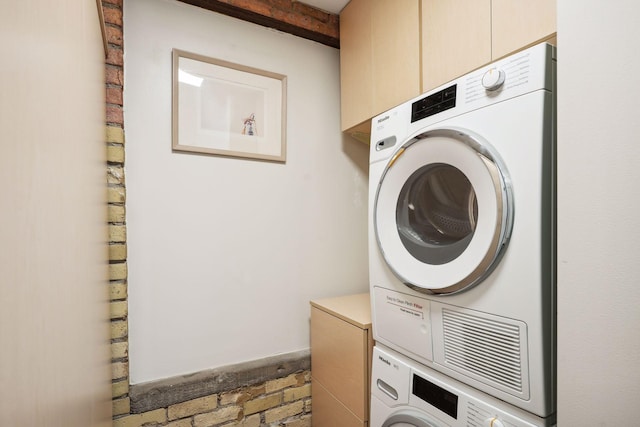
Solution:
<svg viewBox="0 0 640 427"><path fill-rule="evenodd" d="M311 309L311 375L362 420L368 419L369 410L367 335L364 329Z"/></svg>

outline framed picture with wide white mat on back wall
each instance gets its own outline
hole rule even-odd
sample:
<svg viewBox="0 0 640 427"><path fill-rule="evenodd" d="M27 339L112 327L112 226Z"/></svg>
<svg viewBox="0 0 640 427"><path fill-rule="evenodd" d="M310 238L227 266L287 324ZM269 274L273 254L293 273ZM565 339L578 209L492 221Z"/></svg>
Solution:
<svg viewBox="0 0 640 427"><path fill-rule="evenodd" d="M173 50L174 151L285 162L287 77Z"/></svg>

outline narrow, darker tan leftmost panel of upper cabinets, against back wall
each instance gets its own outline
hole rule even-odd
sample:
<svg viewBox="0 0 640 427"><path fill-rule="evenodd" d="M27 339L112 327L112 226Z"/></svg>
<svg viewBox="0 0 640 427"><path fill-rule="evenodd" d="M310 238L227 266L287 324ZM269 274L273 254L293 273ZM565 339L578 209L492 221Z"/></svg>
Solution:
<svg viewBox="0 0 640 427"><path fill-rule="evenodd" d="M351 0L340 13L341 127L372 117L371 0Z"/></svg>

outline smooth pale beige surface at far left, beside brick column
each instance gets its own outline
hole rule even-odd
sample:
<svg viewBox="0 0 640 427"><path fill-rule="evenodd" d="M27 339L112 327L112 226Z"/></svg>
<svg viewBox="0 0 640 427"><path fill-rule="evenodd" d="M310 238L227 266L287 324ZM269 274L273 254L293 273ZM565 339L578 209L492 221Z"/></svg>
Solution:
<svg viewBox="0 0 640 427"><path fill-rule="evenodd" d="M111 426L95 0L0 5L0 425Z"/></svg>

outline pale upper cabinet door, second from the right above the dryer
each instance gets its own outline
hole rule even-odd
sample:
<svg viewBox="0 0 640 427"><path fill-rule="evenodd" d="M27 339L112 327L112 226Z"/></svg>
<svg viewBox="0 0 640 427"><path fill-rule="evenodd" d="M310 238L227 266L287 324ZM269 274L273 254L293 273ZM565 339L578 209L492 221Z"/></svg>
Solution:
<svg viewBox="0 0 640 427"><path fill-rule="evenodd" d="M422 58L423 92L490 62L491 0L422 0Z"/></svg>

